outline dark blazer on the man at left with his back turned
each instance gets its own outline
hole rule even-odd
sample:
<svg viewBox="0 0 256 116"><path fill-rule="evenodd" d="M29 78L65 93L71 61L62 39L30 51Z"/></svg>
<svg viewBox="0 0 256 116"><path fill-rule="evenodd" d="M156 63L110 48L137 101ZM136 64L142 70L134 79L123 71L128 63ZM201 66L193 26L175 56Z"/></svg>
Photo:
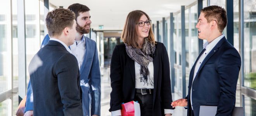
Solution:
<svg viewBox="0 0 256 116"><path fill-rule="evenodd" d="M57 41L36 53L29 64L34 116L83 116L76 57Z"/></svg>

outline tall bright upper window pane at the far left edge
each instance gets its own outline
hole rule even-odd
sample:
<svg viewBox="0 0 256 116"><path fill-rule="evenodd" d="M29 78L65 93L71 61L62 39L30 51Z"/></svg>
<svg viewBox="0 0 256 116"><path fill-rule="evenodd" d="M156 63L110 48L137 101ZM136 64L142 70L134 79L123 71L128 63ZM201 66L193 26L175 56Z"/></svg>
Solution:
<svg viewBox="0 0 256 116"><path fill-rule="evenodd" d="M12 88L10 3L10 0L0 1L0 93Z"/></svg>

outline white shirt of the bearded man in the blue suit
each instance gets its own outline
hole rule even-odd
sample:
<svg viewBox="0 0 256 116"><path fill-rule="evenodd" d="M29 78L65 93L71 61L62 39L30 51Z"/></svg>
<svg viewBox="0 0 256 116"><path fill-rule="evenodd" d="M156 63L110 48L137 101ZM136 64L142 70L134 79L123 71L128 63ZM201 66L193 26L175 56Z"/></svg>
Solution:
<svg viewBox="0 0 256 116"><path fill-rule="evenodd" d="M78 61L78 67L81 68L83 60L85 58L85 36L82 37L80 41L74 41L74 44L69 46L72 54L76 56L76 60Z"/></svg>

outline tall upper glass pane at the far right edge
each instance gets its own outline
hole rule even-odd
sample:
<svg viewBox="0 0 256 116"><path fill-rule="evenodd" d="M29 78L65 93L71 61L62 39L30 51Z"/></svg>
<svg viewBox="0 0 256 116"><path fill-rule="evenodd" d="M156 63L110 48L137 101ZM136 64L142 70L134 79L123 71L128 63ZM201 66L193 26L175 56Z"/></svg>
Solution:
<svg viewBox="0 0 256 116"><path fill-rule="evenodd" d="M244 86L256 89L256 0L244 0Z"/></svg>

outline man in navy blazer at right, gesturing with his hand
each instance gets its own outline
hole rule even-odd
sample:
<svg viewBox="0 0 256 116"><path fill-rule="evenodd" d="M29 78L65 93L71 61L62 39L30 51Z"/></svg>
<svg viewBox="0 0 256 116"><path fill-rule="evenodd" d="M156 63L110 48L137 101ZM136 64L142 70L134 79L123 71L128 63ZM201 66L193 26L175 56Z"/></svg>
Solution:
<svg viewBox="0 0 256 116"><path fill-rule="evenodd" d="M199 116L200 106L217 106L216 116L230 116L235 107L241 58L222 34L227 26L225 9L209 6L200 12L198 38L207 42L190 71L187 97L171 105L187 106L187 116Z"/></svg>

